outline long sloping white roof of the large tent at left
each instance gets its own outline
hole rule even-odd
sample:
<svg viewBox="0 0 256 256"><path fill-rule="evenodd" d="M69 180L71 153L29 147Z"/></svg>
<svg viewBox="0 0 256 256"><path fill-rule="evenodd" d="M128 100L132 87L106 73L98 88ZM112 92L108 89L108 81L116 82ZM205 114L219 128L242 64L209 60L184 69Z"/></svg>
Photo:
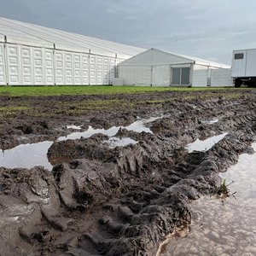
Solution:
<svg viewBox="0 0 256 256"><path fill-rule="evenodd" d="M110 55L122 58L131 57L144 49L125 44L118 44L98 38L64 32L44 26L32 25L17 20L0 17L0 42L7 40L14 44L27 44L56 49L90 52L98 55Z"/></svg>

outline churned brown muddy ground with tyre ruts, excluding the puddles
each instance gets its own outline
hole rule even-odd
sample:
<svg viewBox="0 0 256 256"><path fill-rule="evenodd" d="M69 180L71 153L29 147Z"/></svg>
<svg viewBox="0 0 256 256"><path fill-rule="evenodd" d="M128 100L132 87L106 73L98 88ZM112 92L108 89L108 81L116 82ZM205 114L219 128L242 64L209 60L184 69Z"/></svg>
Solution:
<svg viewBox="0 0 256 256"><path fill-rule="evenodd" d="M29 120L23 113L27 135L26 129L4 133L18 131L18 119L3 122L2 148L8 148L70 132L57 130L61 125L108 128L129 125L137 116L163 114L148 124L153 133L119 130L118 137L138 141L124 148L109 148L102 134L55 142L48 151L56 163L52 172L39 166L0 167L0 254L155 255L167 235L189 224L189 201L214 193L221 181L218 173L236 164L239 154L253 152L256 95L253 90L237 97L229 93L117 96L150 102L53 119ZM44 106L44 111L49 109ZM35 124L44 125L40 130ZM185 148L197 138L224 132L228 134L207 151L189 153Z"/></svg>

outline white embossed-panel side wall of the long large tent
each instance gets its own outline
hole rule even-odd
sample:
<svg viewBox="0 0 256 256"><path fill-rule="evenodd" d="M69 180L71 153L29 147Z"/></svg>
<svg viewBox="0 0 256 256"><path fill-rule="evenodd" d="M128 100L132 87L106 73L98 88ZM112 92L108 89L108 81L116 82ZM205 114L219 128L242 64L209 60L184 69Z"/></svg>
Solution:
<svg viewBox="0 0 256 256"><path fill-rule="evenodd" d="M0 42L0 85L102 85L115 77L116 57Z"/></svg>

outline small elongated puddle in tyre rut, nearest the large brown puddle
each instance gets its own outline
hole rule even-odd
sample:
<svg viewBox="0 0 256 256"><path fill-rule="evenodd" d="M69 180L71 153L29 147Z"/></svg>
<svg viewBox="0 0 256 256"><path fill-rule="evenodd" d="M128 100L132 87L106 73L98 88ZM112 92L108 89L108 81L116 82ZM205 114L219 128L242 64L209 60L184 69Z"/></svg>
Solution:
<svg viewBox="0 0 256 256"><path fill-rule="evenodd" d="M221 141L228 133L224 132L223 134L208 137L206 140L201 141L200 139L196 139L194 143L188 144L185 148L189 150L189 153L193 151L207 151L212 148L216 143Z"/></svg>

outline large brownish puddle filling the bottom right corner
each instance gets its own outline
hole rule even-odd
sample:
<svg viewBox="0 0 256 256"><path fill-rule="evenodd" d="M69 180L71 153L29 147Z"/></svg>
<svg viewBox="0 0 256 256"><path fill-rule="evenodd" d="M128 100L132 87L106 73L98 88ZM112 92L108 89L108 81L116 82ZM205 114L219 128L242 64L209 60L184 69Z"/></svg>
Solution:
<svg viewBox="0 0 256 256"><path fill-rule="evenodd" d="M236 198L193 201L189 229L172 234L158 255L256 255L256 154L241 154L221 177Z"/></svg>

